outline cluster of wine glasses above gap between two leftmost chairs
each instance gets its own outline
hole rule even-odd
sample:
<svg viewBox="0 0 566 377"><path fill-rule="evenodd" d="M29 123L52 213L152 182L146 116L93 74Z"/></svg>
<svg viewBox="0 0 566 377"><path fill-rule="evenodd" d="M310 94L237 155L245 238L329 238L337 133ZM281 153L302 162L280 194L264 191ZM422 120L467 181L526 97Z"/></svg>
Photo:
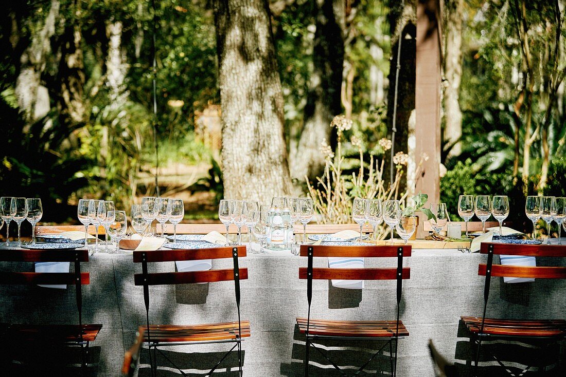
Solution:
<svg viewBox="0 0 566 377"><path fill-rule="evenodd" d="M104 250L102 252L114 254L118 253L118 244L126 235L127 219L125 211L117 211L114 202L111 200L80 199L77 206L77 217L79 222L84 225L84 246L88 247L88 226L95 226L95 246L93 253L98 252L98 227L102 226L105 230ZM113 250L108 248L108 235L112 241L116 241Z"/></svg>

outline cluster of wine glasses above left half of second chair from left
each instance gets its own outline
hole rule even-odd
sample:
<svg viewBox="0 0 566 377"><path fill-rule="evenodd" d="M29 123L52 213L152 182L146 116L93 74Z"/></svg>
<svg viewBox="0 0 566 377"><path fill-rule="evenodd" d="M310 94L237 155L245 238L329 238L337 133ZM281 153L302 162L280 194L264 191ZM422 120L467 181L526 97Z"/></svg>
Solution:
<svg viewBox="0 0 566 377"><path fill-rule="evenodd" d="M177 240L177 224L185 217L185 204L179 198L162 198L145 196L141 204L132 205L131 222L134 230L141 236L146 236L151 229L153 220L161 224L161 238L165 237L165 223L173 224L173 241Z"/></svg>

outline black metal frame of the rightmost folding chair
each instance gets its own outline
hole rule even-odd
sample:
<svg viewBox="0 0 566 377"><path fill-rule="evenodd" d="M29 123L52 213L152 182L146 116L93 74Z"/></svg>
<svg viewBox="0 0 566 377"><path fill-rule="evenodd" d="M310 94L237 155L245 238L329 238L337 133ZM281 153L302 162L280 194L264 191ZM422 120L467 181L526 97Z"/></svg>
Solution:
<svg viewBox="0 0 566 377"><path fill-rule="evenodd" d="M489 295L490 295L490 283L491 283L491 272L492 272L492 268L493 268L493 258L494 258L494 244L488 244L488 246L487 246L487 263L486 263L486 280L485 280L485 284L484 284L484 288L483 288L483 301L484 302L483 302L482 326L481 326L481 328L480 328L480 330L477 334L472 333L471 339L470 339L470 342L472 344L477 345L477 349L476 349L476 352L475 352L475 359L474 359L474 373L473 373L474 377L477 377L477 375L478 375L479 353L480 353L480 350L481 350L482 340L491 341L491 340L499 340L499 339L505 339L505 340L515 339L517 341L520 341L520 339L524 339L524 340L530 340L528 342L529 344L536 343L537 340L540 340L541 343L546 345L547 348L548 348L551 345L556 344L563 339L566 339L566 336L549 338L549 337L518 336L518 335L491 335L491 334L488 334L488 333L483 333L483 328L484 328L484 324L485 324L485 320L486 320L487 301L488 301L488 298L489 298ZM543 346L539 346L539 348L544 349ZM492 354L491 352L489 352L485 348L484 348L484 352L486 352L488 354L488 356L490 356L492 359L494 359L494 361L497 362L498 365L501 366L501 368L503 368L505 371L507 371L510 376L516 377L515 374L511 370L509 370L508 367L505 366L504 363L499 358L497 358L494 354ZM520 372L520 374L518 376L524 375L532 367L534 367L534 366L527 366L524 370L522 370ZM544 370L542 370L541 372L544 372Z"/></svg>

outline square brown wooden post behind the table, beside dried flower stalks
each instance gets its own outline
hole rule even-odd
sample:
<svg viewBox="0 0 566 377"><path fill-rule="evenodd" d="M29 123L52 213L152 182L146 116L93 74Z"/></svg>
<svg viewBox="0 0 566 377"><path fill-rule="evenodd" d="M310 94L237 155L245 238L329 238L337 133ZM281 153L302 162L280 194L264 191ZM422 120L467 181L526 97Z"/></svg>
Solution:
<svg viewBox="0 0 566 377"><path fill-rule="evenodd" d="M441 31L439 0L417 2L417 67L415 77L415 160L426 153L415 192L428 194L428 203L440 200L440 84ZM424 236L421 218L417 237Z"/></svg>

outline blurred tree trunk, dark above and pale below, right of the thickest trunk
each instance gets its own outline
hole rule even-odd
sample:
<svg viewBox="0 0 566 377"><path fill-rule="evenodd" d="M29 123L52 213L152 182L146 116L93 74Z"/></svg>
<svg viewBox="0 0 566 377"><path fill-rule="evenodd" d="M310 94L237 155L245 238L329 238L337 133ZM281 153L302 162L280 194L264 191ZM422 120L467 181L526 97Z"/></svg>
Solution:
<svg viewBox="0 0 566 377"><path fill-rule="evenodd" d="M305 106L305 125L298 153L291 161L294 178L320 175L324 156L320 143L331 140L330 123L342 112L341 88L344 66L344 0L315 1L316 32L313 49L314 72Z"/></svg>

